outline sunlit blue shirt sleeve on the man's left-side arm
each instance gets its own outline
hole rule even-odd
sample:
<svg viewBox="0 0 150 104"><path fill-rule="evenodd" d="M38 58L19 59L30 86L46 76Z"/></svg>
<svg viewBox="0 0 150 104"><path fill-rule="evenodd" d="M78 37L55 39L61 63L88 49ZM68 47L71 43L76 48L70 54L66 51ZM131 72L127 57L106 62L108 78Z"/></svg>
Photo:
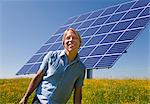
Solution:
<svg viewBox="0 0 150 104"><path fill-rule="evenodd" d="M40 65L40 69L39 70L43 70L44 72L47 71L47 69L48 69L48 62L50 60L51 55L52 55L52 52L49 52L48 54L46 54L44 56L42 64Z"/></svg>

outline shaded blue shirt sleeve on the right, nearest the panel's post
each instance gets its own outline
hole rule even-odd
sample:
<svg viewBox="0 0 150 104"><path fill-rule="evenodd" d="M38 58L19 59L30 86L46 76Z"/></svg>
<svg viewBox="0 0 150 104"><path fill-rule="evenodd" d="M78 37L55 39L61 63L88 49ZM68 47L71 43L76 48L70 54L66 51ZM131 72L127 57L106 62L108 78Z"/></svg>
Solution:
<svg viewBox="0 0 150 104"><path fill-rule="evenodd" d="M85 77L85 69L83 69L81 75L76 80L75 87L82 87L83 86L84 77Z"/></svg>

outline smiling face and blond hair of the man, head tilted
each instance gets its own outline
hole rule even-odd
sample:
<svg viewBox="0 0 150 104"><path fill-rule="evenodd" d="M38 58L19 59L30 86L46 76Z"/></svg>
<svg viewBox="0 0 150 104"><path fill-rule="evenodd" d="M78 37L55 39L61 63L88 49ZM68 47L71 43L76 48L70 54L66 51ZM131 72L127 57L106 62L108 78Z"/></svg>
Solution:
<svg viewBox="0 0 150 104"><path fill-rule="evenodd" d="M72 30L69 30L64 38L64 48L68 52L78 52L79 47L79 37Z"/></svg>

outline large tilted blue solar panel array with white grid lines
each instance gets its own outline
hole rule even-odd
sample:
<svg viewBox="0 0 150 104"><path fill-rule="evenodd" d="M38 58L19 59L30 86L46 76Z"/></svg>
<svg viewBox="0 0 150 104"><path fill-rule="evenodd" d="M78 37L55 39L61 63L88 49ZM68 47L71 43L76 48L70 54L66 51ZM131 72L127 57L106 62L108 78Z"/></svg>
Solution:
<svg viewBox="0 0 150 104"><path fill-rule="evenodd" d="M70 27L76 29L83 39L79 55L87 69L110 68L149 20L149 0L130 1L71 17L17 74L36 73L46 53L63 50L62 35Z"/></svg>

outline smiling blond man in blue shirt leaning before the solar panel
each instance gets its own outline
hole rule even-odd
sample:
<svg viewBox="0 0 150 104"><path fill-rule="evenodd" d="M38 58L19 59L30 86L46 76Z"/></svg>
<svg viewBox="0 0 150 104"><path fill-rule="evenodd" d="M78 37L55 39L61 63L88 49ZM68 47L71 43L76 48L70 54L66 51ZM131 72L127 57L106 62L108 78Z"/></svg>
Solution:
<svg viewBox="0 0 150 104"><path fill-rule="evenodd" d="M78 32L69 28L64 32L62 42L63 51L49 52L44 57L19 104L27 104L35 89L33 104L66 104L73 90L74 104L81 104L85 76L85 66L78 56L81 38Z"/></svg>

